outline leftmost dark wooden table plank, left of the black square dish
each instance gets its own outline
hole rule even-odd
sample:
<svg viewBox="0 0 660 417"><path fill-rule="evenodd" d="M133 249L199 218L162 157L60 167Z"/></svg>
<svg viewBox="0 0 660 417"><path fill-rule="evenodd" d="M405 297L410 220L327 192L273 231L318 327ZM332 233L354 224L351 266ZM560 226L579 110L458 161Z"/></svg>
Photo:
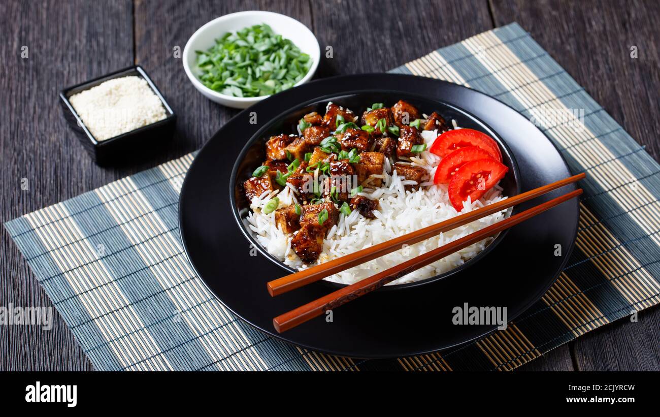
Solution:
<svg viewBox="0 0 660 417"><path fill-rule="evenodd" d="M59 89L133 62L131 1L0 2L2 222L123 176L94 165L63 120ZM129 11L129 13L127 13ZM22 46L28 56L21 57ZM20 187L22 178L29 189ZM0 305L51 306L4 230ZM0 369L88 370L55 312L49 331L0 326Z"/></svg>

